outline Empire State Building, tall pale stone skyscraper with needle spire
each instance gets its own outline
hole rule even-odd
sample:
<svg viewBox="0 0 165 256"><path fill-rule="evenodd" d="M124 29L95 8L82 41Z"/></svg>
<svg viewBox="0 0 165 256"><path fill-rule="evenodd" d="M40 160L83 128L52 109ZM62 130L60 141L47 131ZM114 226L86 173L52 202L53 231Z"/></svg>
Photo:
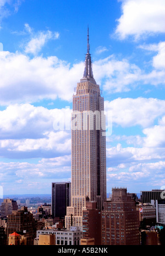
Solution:
<svg viewBox="0 0 165 256"><path fill-rule="evenodd" d="M86 202L97 202L102 210L106 201L106 136L104 99L92 72L87 31L84 76L73 95L72 113L72 193L65 227L82 226Z"/></svg>

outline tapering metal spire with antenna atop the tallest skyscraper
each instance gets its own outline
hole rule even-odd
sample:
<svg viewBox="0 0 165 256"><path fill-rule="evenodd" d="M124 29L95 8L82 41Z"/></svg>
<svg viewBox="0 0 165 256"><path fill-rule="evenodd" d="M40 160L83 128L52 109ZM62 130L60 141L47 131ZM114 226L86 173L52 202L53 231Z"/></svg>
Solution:
<svg viewBox="0 0 165 256"><path fill-rule="evenodd" d="M93 72L92 72L92 61L91 61L90 44L89 44L89 26L87 27L87 53L85 57L84 77L81 80L91 80L92 83L96 83Z"/></svg>

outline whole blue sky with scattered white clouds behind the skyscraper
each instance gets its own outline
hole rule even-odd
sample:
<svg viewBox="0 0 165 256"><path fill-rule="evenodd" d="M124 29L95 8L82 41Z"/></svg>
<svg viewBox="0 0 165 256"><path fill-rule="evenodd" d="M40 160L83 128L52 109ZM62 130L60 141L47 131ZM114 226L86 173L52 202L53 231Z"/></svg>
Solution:
<svg viewBox="0 0 165 256"><path fill-rule="evenodd" d="M112 113L107 192L165 185L164 0L0 0L0 186L51 193L70 181L72 111L87 26L93 72Z"/></svg>

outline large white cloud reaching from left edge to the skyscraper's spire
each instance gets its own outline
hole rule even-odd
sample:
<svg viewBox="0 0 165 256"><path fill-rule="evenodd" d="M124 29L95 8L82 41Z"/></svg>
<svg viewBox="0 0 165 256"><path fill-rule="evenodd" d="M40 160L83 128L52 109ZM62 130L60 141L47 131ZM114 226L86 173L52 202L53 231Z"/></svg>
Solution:
<svg viewBox="0 0 165 256"><path fill-rule="evenodd" d="M74 87L83 77L83 68L83 63L70 67L56 56L30 59L18 52L0 52L0 104L57 97L72 101Z"/></svg>

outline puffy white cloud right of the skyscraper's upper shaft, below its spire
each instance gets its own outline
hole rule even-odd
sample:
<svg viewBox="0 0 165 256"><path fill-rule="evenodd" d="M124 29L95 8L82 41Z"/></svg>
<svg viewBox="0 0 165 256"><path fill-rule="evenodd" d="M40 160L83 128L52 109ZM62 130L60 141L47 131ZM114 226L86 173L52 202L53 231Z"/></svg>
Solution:
<svg viewBox="0 0 165 256"><path fill-rule="evenodd" d="M147 128L153 124L156 118L165 114L165 101L143 97L118 98L105 101L105 110L112 111L114 124L122 127L139 125Z"/></svg>

